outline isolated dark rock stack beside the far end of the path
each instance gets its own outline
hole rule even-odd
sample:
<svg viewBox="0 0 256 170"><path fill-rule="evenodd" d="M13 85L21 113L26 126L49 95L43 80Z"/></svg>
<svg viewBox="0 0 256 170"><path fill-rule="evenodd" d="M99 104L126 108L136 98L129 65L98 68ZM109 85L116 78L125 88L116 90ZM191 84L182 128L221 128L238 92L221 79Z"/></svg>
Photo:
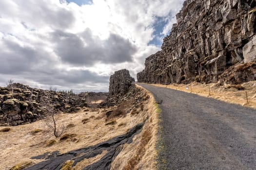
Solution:
<svg viewBox="0 0 256 170"><path fill-rule="evenodd" d="M115 71L115 73L110 76L108 98L106 101L102 102L100 106L113 106L122 102L125 98L124 96L131 89L134 89L134 82L134 78L130 76L127 69Z"/></svg>

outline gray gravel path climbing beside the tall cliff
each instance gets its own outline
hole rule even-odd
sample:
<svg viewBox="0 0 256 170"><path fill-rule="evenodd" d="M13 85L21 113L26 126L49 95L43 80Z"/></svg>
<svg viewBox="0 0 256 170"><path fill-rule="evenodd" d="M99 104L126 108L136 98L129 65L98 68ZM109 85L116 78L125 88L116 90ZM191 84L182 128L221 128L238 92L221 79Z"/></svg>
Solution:
<svg viewBox="0 0 256 170"><path fill-rule="evenodd" d="M256 170L256 110L153 85L167 170ZM162 101L162 102L161 102Z"/></svg>

